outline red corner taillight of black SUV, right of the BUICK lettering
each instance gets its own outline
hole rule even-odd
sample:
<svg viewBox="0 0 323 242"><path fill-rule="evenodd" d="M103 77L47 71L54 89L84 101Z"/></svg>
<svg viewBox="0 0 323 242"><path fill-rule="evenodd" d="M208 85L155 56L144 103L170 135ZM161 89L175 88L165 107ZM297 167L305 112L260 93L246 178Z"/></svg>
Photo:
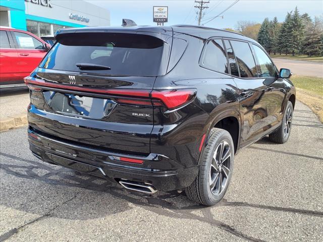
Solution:
<svg viewBox="0 0 323 242"><path fill-rule="evenodd" d="M161 100L166 107L174 109L192 101L196 94L195 89L153 90L150 96Z"/></svg>

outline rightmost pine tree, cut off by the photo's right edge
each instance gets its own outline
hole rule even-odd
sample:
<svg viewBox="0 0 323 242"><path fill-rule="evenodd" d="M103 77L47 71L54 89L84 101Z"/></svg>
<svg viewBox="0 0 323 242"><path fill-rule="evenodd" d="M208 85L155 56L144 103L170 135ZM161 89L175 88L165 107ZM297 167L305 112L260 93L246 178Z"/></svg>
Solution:
<svg viewBox="0 0 323 242"><path fill-rule="evenodd" d="M306 31L306 36L303 40L304 52L309 56L320 55L322 52L322 30L319 24L318 18L315 17L314 23Z"/></svg>

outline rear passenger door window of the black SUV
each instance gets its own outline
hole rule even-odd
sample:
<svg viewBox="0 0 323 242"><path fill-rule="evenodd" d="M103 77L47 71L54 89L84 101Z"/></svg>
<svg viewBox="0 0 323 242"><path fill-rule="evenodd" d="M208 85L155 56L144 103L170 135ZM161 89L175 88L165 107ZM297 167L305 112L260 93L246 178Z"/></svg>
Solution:
<svg viewBox="0 0 323 242"><path fill-rule="evenodd" d="M240 77L252 78L258 77L256 64L249 44L242 41L230 40L231 45L236 55Z"/></svg>

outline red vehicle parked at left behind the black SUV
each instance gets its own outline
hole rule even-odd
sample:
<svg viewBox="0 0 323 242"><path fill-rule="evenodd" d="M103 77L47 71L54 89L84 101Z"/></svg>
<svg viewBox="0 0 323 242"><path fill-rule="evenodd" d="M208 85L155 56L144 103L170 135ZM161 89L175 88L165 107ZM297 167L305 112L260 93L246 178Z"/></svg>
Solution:
<svg viewBox="0 0 323 242"><path fill-rule="evenodd" d="M50 45L36 35L0 27L0 88L23 87Z"/></svg>

